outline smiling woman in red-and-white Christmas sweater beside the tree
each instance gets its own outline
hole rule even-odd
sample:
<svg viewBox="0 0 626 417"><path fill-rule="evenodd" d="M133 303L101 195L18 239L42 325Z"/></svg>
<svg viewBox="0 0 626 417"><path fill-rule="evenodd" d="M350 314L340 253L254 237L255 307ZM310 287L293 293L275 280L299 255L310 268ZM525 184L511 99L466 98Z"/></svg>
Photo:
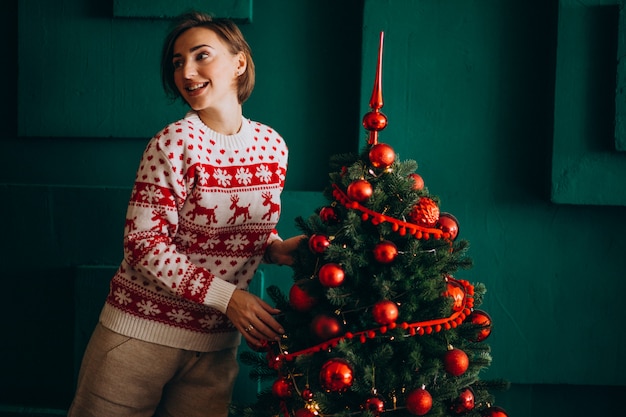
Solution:
<svg viewBox="0 0 626 417"><path fill-rule="evenodd" d="M142 156L70 417L225 417L241 335L254 346L283 332L279 311L247 292L262 261L291 264L301 239L275 230L287 147L242 114L250 47L232 22L186 14L161 76L191 110Z"/></svg>

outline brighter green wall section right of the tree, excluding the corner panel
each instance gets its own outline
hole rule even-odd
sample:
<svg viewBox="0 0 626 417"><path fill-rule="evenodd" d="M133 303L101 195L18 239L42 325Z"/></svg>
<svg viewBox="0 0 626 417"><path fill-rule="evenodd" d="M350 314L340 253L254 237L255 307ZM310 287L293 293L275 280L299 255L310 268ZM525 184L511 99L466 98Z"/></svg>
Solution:
<svg viewBox="0 0 626 417"><path fill-rule="evenodd" d="M362 93L371 91L366 81L373 80L384 30L389 126L381 140L418 161L441 208L459 219L475 263L464 275L487 285L485 307L497 326L489 374L517 383L626 385L626 335L615 328L626 209L550 201L555 64L570 41L595 49L596 57L611 54L612 66L595 62L602 78L585 79L584 98L596 100L594 113L613 113L588 120L594 130L585 140L596 149L612 143L606 153L624 172L602 176L597 188L611 181L616 193L625 190L626 153L612 141L619 10L587 3L587 19L596 24L585 29L597 33L558 45L557 2L365 2ZM613 94L604 103L596 90L606 84ZM575 95L568 104L579 104Z"/></svg>

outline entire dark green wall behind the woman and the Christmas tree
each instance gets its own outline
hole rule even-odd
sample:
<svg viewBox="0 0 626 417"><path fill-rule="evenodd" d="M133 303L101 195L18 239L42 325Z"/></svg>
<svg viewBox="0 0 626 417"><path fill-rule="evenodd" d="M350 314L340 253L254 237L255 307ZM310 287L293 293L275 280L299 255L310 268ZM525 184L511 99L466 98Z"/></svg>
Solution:
<svg viewBox="0 0 626 417"><path fill-rule="evenodd" d="M167 23L120 20L112 2L93 3L13 1L0 17L11 40L2 89L9 108L0 113L7 406L67 407L102 277L121 257L136 163L149 136L182 110L158 83ZM496 394L511 415L602 414L625 392L626 208L589 198L595 188L582 180L569 184L574 201L552 201L554 159L564 155L553 146L555 125L568 125L555 105L559 48L589 42L582 49L605 57L596 73L615 77L606 56L623 39L607 39L624 31L617 8L606 7L590 7L595 24L586 27L603 42L560 38L556 0L257 0L252 22L242 24L258 74L245 112L280 131L291 152L284 235L295 233L295 216L322 203L328 156L363 144L360 118L385 32L389 126L380 139L418 162L471 242L475 266L462 278L487 285L494 361L485 377L513 383ZM607 84L585 82L591 91ZM596 168L598 189L619 193L626 159L607 145L609 95L591 96L599 116L583 139L621 167L608 176ZM255 289L288 281L288 269L269 267ZM254 389L246 375L238 384ZM572 405L572 395L585 394L588 405Z"/></svg>

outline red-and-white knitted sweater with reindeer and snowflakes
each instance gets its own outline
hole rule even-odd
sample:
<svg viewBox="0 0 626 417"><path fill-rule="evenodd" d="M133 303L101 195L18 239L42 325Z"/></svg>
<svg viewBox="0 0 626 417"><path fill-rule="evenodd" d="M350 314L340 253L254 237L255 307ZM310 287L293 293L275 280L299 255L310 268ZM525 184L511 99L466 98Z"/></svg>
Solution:
<svg viewBox="0 0 626 417"><path fill-rule="evenodd" d="M137 170L103 325L188 350L238 344L224 312L279 239L287 156L277 132L245 118L227 136L189 112L155 135Z"/></svg>

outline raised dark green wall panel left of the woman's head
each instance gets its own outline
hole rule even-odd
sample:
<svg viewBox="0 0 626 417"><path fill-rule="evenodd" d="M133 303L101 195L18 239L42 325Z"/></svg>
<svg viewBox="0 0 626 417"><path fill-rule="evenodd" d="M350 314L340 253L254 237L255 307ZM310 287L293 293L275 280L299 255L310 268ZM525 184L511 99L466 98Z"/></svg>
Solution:
<svg viewBox="0 0 626 417"><path fill-rule="evenodd" d="M18 7L18 135L144 138L184 114L160 87L168 21L112 19L108 2Z"/></svg>

